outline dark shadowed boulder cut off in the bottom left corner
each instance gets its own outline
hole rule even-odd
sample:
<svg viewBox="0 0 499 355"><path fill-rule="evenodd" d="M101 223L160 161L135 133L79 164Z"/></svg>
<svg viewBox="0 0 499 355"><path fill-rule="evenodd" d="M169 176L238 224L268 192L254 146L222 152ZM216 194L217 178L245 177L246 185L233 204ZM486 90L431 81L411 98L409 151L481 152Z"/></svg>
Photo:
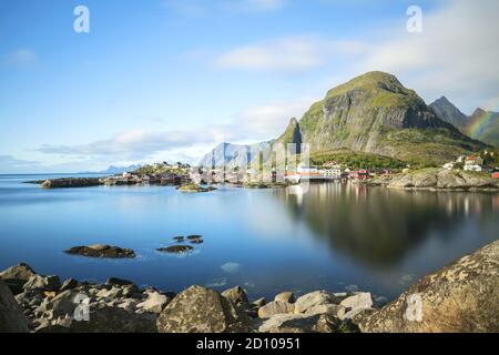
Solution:
<svg viewBox="0 0 499 355"><path fill-rule="evenodd" d="M0 280L0 333L28 333L28 320L6 283Z"/></svg>

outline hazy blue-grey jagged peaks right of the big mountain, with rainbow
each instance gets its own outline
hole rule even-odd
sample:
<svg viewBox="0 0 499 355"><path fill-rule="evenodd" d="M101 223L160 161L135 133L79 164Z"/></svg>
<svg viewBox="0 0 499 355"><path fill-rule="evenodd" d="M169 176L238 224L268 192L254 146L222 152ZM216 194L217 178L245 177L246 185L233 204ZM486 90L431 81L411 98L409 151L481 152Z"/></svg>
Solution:
<svg viewBox="0 0 499 355"><path fill-rule="evenodd" d="M499 112L477 109L468 116L446 97L431 103L430 108L441 120L454 124L462 133L499 148Z"/></svg>

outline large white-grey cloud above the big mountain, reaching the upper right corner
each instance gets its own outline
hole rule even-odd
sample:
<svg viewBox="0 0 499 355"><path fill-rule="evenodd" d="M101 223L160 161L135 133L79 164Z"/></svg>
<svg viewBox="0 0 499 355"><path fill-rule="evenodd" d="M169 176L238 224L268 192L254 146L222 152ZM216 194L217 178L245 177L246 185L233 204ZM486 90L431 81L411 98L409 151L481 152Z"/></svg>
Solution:
<svg viewBox="0 0 499 355"><path fill-rule="evenodd" d="M435 12L422 10L422 33L409 33L405 22L397 21L359 40L279 38L234 48L220 54L215 64L273 73L320 70L323 77L342 80L381 70L399 77L427 101L445 94L466 111L489 102L497 105L499 1L444 1Z"/></svg>

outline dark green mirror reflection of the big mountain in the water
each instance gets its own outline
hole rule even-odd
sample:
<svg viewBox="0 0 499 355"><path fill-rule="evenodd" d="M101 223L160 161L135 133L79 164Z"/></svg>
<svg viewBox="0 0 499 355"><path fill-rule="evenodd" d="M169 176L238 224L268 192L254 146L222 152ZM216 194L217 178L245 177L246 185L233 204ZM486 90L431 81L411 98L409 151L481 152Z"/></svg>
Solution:
<svg viewBox="0 0 499 355"><path fill-rule="evenodd" d="M486 221L497 194L401 191L355 184L312 184L308 193L276 194L294 219L306 222L330 247L379 268L400 262L426 239L452 237L464 219ZM446 233L442 233L446 232Z"/></svg>

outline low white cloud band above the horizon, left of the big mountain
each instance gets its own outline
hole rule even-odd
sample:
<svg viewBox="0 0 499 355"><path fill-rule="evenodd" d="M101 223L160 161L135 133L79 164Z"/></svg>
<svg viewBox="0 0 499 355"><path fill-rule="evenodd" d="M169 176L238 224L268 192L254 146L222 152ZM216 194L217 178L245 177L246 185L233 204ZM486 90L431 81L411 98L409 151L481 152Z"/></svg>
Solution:
<svg viewBox="0 0 499 355"><path fill-rule="evenodd" d="M243 110L227 124L212 124L193 130L126 131L106 140L88 144L45 144L38 152L58 156L81 156L106 161L144 161L161 154L200 158L212 145L226 141L259 141L276 138L292 116L299 116L308 106L308 99L294 102L273 102Z"/></svg>

